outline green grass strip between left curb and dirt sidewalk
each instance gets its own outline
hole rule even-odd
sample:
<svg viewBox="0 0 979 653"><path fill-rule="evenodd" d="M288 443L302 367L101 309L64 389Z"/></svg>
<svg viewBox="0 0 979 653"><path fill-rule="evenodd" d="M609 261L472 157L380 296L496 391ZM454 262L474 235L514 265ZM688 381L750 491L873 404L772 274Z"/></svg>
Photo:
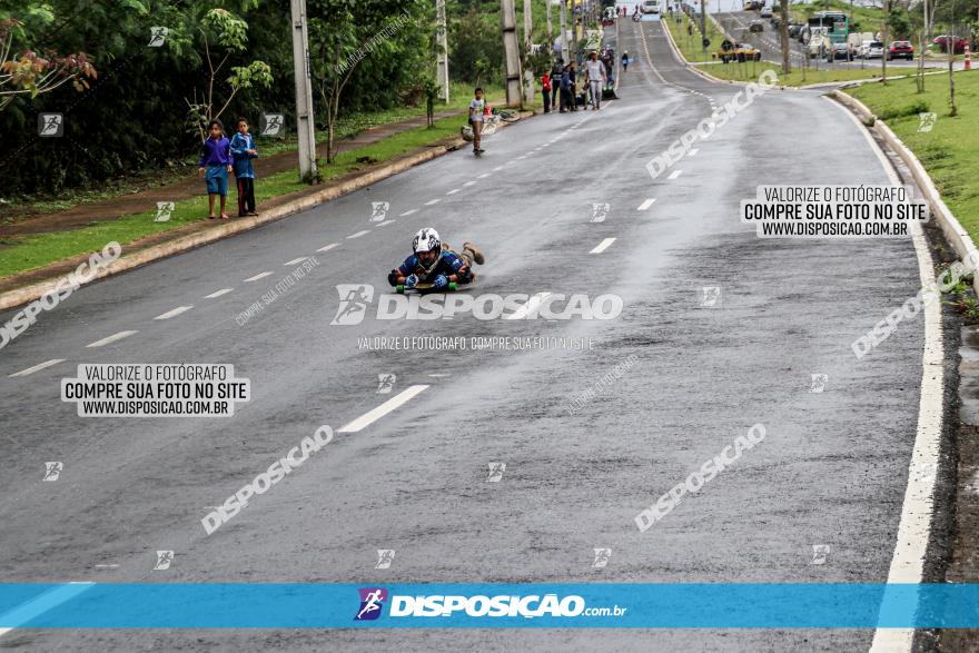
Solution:
<svg viewBox="0 0 979 653"><path fill-rule="evenodd" d="M337 156L335 164L320 168L320 171L326 179L336 178L365 167L365 164L358 162L357 158L369 157L372 161L386 161L445 137L458 135L462 125L463 119L458 116L443 118L435 121L434 129L424 127L411 129L376 144L343 152ZM202 187L201 181L201 190ZM308 188L307 185L298 181L298 169L296 169L257 179L255 196L260 209L265 200ZM237 209L236 201L235 190L231 188L228 195L228 208L233 215ZM170 220L166 222L156 222L155 217L155 211L135 214L72 231L7 239L0 243L6 246L0 249L0 277L95 251L112 240L122 244L125 251L126 244L138 238L207 219L207 196L177 201Z"/></svg>

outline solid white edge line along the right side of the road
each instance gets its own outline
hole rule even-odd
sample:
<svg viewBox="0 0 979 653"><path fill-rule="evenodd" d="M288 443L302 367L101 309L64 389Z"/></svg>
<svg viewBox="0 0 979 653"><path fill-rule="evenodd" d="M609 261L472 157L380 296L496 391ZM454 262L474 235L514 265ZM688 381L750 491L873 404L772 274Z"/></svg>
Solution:
<svg viewBox="0 0 979 653"><path fill-rule="evenodd" d="M850 117L863 138L870 144L873 154L880 159L888 178L894 186L901 181L891 167L890 161L878 147L877 141L860 123L849 109L838 102L824 98L840 111ZM917 221L911 222L911 241L918 257L918 275L921 285L927 286L934 280L934 266L924 231ZM934 482L938 476L939 445L941 442L942 396L945 373L942 360L945 345L941 339L940 304L931 301L924 305L924 353L922 355L921 398L918 403L918 431L914 436L914 448L908 466L908 487L904 491L904 503L901 507L901 522L898 526L898 538L894 555L891 558L888 583L921 583L924 575L924 554L928 550L928 536L934 514ZM922 469L934 469L936 474L922 474ZM877 629L873 632L871 653L891 653L911 651L914 629Z"/></svg>

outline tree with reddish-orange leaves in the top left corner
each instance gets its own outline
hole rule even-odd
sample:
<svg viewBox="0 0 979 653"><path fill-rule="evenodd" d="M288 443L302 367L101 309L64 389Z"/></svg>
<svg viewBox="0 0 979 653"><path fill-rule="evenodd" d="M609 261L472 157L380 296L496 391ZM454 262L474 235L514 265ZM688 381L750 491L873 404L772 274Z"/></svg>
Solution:
<svg viewBox="0 0 979 653"><path fill-rule="evenodd" d="M49 9L43 8L42 11L53 19ZM14 41L27 40L28 34L20 19L0 18L0 111L18 96L33 99L68 82L81 92L89 88L89 79L98 78L95 65L85 52L59 57L55 50L48 50L47 56L42 57L31 49L24 49L19 56L11 56Z"/></svg>

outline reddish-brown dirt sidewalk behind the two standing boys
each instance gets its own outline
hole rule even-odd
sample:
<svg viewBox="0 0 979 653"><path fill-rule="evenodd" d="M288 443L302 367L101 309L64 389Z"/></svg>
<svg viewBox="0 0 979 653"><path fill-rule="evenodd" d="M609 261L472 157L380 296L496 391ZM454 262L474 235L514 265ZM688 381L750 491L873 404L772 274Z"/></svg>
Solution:
<svg viewBox="0 0 979 653"><path fill-rule="evenodd" d="M459 115L457 109L448 109L436 111L435 119L448 118ZM362 148L364 146L382 141L395 133L400 133L409 129L425 127L427 119L425 116L409 118L389 125L372 127L355 136L346 138L338 142L337 154L352 149ZM317 154L322 158L326 158L326 144L319 144L316 148ZM276 172L283 172L298 167L296 152L279 152L270 157L259 157L254 161L255 172L258 182L261 178L269 177ZM234 179L231 180L234 182ZM154 210L158 201L177 201L180 199L189 199L204 195L204 182L197 177L197 170L188 175L184 179L174 184L168 184L160 188L150 188L130 195L121 195L112 199L81 204L63 211L46 214L32 218L26 218L16 222L0 225L0 238L3 236L29 236L31 234L44 234L49 231L70 231L81 227L91 226L93 222L115 220L116 218L129 214L139 214ZM267 202L263 206L267 206ZM231 191L231 201L229 201L229 211L234 206L234 190Z"/></svg>

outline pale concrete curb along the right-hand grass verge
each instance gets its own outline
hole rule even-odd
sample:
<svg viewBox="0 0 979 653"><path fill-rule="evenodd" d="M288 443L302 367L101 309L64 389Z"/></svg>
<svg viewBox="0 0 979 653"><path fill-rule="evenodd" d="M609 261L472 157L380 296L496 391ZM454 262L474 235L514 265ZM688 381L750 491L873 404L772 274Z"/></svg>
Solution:
<svg viewBox="0 0 979 653"><path fill-rule="evenodd" d="M906 146L904 142L891 131L891 128L888 127L884 121L873 115L867 105L839 90L834 90L827 95L852 111L861 122L868 126L868 129L872 129L880 135L884 142L897 152L911 171L911 176L914 178L914 181L924 195L924 199L928 200L928 205L931 208L931 215L938 218L938 224L941 226L942 232L955 248L956 254L959 255L959 259L976 260L975 258L968 258L979 256L976 251L976 244L972 241L969 232L962 228L962 225L956 218L955 214L952 214L948 206L946 206L945 201L941 199L941 194L939 194L938 189L934 187L934 182L924 170L924 166L918 160L918 157L916 157L908 146ZM979 277L972 279L972 287L979 293Z"/></svg>

